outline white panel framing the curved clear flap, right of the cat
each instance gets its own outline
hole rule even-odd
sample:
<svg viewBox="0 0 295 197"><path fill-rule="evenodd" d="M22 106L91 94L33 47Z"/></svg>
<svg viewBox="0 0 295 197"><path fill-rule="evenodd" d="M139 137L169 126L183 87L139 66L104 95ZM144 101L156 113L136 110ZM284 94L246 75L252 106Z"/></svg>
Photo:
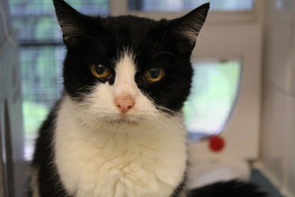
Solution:
<svg viewBox="0 0 295 197"><path fill-rule="evenodd" d="M205 24L193 51L193 60L242 60L240 91L232 117L220 134L225 146L212 151L209 142L191 144L193 159L257 159L260 132L261 45L258 24Z"/></svg>

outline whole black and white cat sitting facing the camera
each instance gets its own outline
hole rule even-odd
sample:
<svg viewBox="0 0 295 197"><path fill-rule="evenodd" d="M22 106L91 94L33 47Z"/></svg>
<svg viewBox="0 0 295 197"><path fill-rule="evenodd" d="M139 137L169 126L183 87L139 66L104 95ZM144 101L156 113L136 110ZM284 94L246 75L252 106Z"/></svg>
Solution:
<svg viewBox="0 0 295 197"><path fill-rule="evenodd" d="M171 21L54 6L68 49L65 90L40 129L29 196L208 196L186 191L181 108L209 4ZM242 189L237 196L260 195Z"/></svg>

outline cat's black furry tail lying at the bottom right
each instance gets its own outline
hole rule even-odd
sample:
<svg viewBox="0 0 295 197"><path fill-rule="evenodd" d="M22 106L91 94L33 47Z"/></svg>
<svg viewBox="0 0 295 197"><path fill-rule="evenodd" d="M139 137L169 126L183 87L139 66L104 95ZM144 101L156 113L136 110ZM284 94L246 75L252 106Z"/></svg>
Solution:
<svg viewBox="0 0 295 197"><path fill-rule="evenodd" d="M267 197L252 183L241 181L218 182L188 193L188 197Z"/></svg>

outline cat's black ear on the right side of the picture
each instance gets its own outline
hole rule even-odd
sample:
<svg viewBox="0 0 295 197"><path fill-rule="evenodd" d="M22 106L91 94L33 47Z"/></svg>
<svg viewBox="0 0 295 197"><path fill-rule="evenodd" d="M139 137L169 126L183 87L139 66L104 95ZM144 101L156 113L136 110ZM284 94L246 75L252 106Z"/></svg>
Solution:
<svg viewBox="0 0 295 197"><path fill-rule="evenodd" d="M202 28L210 8L210 3L203 4L181 18L171 21L169 35L176 41L181 52L191 51L195 46L200 29Z"/></svg>

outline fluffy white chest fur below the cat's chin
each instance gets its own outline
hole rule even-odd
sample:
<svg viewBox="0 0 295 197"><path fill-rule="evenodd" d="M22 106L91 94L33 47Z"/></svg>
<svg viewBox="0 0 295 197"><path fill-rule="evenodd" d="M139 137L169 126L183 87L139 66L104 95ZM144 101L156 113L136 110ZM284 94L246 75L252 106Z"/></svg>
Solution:
<svg viewBox="0 0 295 197"><path fill-rule="evenodd" d="M70 194L171 195L186 170L186 132L180 117L166 118L165 127L143 123L90 128L75 119L72 105L65 99L60 106L54 142L58 174Z"/></svg>

